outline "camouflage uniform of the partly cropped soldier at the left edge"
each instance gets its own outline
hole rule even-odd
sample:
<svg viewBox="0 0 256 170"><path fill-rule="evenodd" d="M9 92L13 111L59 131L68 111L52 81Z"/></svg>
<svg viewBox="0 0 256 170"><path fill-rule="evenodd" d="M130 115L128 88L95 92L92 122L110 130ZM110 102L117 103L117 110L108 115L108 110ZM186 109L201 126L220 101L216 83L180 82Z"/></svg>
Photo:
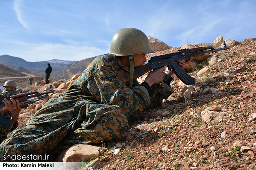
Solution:
<svg viewBox="0 0 256 170"><path fill-rule="evenodd" d="M11 96L11 95L16 95L16 94L19 94L17 91L14 91L14 90L5 90L4 92L0 93L0 98L1 97L7 97L7 96ZM11 120L11 117L12 117L12 113L11 112L5 112L5 115L3 115L3 117L5 117L5 119L7 120ZM0 126L0 143L6 139L8 133L10 133L11 131L13 131L14 129L17 128L18 126L18 122L16 124L14 124L12 126L12 129L9 130L9 129L6 129L6 128L3 128L3 126Z"/></svg>

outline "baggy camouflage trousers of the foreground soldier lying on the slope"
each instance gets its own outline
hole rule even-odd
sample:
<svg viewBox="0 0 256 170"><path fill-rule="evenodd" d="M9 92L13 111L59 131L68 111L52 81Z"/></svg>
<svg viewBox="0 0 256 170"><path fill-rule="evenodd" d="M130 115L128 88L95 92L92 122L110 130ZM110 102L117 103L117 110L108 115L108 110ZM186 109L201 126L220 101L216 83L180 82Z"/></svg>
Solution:
<svg viewBox="0 0 256 170"><path fill-rule="evenodd" d="M0 162L16 162L4 159L6 154L42 155L61 145L123 140L128 134L128 120L117 105L81 100L65 110L62 110L64 108L61 104L58 104L59 109L56 105L44 106L22 129L13 131L10 137L0 144ZM59 111L50 112L54 107ZM78 114L76 110L79 110Z"/></svg>

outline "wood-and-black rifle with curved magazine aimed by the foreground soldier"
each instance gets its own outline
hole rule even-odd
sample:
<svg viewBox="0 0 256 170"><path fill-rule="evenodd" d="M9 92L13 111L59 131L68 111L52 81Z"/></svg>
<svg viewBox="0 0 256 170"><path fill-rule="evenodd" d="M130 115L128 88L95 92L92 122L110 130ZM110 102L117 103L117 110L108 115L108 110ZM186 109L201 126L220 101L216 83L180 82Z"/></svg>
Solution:
<svg viewBox="0 0 256 170"><path fill-rule="evenodd" d="M191 77L183 68L179 65L179 60L187 61L191 57L197 58L199 56L204 56L206 53L216 53L220 50L227 50L230 47L226 46L225 41L222 42L223 48L215 49L212 46L208 47L198 47L198 48L187 48L180 49L176 53L164 54L160 56L154 56L149 59L149 63L138 66L134 68L133 80L144 75L150 70L156 70L161 67L167 66L169 70L173 70L175 75L186 85L195 84L195 78ZM125 84L130 83L130 73L125 70L118 71L119 80L123 81Z"/></svg>

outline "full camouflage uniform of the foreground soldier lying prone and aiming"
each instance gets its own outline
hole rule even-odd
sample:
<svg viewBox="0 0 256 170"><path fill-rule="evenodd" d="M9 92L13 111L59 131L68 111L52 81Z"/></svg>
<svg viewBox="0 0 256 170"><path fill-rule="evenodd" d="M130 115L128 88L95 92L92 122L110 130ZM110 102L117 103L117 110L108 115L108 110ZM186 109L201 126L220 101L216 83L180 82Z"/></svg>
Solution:
<svg viewBox="0 0 256 170"><path fill-rule="evenodd" d="M4 153L40 155L63 145L123 140L127 119L160 104L173 90L170 82L154 85L150 97L137 81L130 89L117 77L122 69L130 71L113 54L97 57L66 92L50 99L0 144L0 159Z"/></svg>

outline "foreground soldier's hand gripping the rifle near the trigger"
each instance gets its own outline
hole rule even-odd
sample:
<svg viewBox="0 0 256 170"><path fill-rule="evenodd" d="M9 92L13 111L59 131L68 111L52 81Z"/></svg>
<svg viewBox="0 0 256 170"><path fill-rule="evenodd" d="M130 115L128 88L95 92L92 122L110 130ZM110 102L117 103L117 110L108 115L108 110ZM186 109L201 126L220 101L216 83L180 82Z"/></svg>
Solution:
<svg viewBox="0 0 256 170"><path fill-rule="evenodd" d="M145 78L145 82L147 82L150 87L153 84L163 83L164 82L164 73L163 73L164 70L165 70L165 68L162 67L157 70L150 71L150 73Z"/></svg>

